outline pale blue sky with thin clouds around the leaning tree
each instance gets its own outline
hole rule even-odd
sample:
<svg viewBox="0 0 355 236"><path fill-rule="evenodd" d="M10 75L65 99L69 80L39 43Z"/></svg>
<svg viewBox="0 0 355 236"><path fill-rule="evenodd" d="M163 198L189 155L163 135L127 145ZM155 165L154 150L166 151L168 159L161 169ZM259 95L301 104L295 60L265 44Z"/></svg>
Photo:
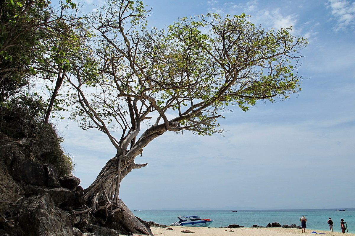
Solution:
<svg viewBox="0 0 355 236"><path fill-rule="evenodd" d="M216 12L250 15L264 28L293 26L308 38L299 74L302 90L249 111L231 107L225 133L172 132L153 140L121 183L130 209L355 208L355 2L346 0L146 0L149 26ZM104 1L81 0L90 12ZM94 5L93 5L94 4ZM115 155L108 138L75 122L57 125L89 186Z"/></svg>

